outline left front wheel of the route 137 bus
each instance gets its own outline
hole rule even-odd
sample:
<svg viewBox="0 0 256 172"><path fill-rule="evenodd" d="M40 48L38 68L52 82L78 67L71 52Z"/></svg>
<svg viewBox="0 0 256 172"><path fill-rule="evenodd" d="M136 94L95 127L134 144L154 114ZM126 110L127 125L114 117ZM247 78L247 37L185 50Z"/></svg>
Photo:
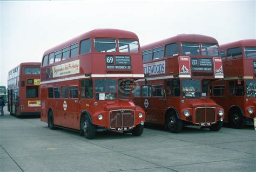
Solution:
<svg viewBox="0 0 256 172"><path fill-rule="evenodd" d="M179 133L182 129L182 121L177 118L173 111L167 114L166 127L171 133Z"/></svg>

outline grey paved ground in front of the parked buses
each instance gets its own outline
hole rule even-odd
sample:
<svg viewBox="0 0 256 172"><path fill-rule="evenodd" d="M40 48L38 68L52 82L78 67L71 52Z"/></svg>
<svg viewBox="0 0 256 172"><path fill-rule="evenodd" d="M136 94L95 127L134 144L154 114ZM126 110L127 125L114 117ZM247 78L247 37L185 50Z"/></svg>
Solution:
<svg viewBox="0 0 256 172"><path fill-rule="evenodd" d="M141 136L101 132L92 140L50 130L39 118L0 116L0 171L255 171L256 131L161 126Z"/></svg>

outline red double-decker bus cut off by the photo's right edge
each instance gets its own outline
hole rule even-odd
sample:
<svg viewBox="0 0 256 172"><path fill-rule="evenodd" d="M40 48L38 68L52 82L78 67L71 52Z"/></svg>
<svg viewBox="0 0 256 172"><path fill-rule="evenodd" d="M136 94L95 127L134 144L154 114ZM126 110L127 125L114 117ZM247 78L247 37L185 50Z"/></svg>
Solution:
<svg viewBox="0 0 256 172"><path fill-rule="evenodd" d="M256 39L220 45L224 80L212 83L212 99L224 107L233 128L243 128L246 121L256 126Z"/></svg>

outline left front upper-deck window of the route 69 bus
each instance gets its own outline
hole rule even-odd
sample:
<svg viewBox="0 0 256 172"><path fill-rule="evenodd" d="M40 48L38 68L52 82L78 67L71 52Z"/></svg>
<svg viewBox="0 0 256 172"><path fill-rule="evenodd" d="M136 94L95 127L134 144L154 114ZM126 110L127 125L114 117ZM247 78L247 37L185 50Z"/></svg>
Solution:
<svg viewBox="0 0 256 172"><path fill-rule="evenodd" d="M94 39L96 52L116 52L115 39Z"/></svg>

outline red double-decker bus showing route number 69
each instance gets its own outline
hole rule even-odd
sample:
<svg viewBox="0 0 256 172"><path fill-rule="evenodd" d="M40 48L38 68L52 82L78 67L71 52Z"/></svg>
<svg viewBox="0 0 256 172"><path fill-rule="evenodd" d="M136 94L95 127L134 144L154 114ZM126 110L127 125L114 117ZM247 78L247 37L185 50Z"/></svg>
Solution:
<svg viewBox="0 0 256 172"><path fill-rule="evenodd" d="M107 129L141 135L145 112L131 97L133 79L144 77L141 56L137 35L116 29L92 30L47 50L41 120L87 139Z"/></svg>

